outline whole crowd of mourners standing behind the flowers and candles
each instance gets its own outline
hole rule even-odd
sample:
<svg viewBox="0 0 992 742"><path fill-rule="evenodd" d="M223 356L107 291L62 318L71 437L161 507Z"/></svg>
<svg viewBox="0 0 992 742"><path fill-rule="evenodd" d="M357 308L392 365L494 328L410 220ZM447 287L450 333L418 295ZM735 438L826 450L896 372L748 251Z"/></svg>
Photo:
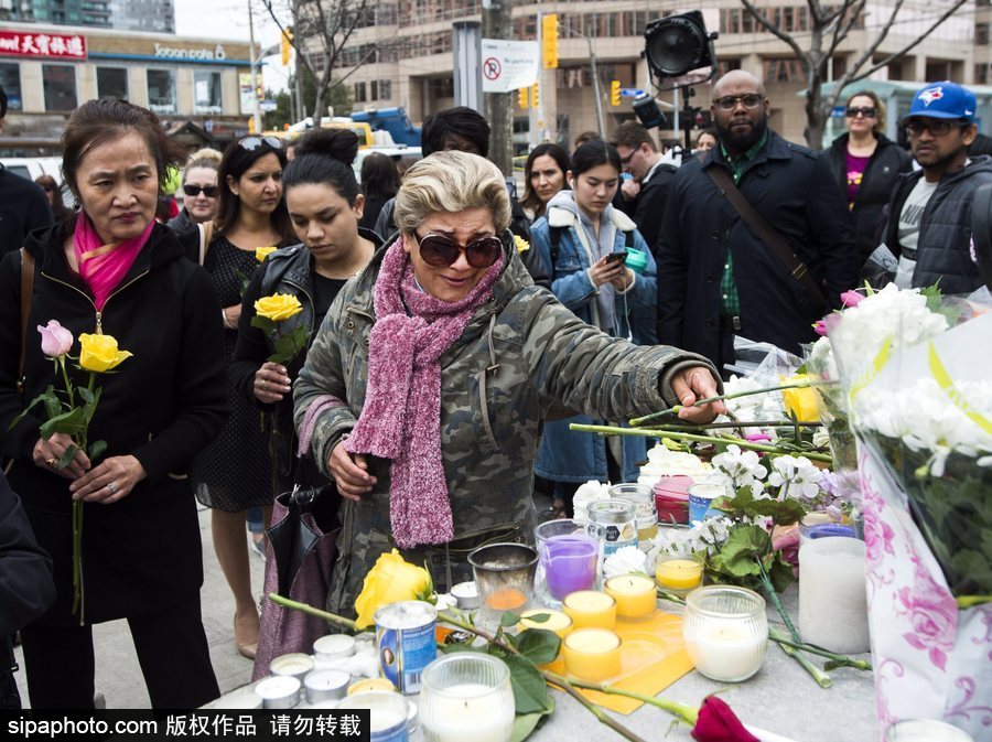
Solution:
<svg viewBox="0 0 992 742"><path fill-rule="evenodd" d="M117 619L153 707L218 696L197 501L234 596L233 646L254 658L267 625L250 508L269 526L294 487L333 504L332 611L354 613L393 547L444 591L471 579L474 547L531 538L536 486L565 517L580 483L636 478L645 439L570 422L713 396L735 338L799 352L864 278L980 288L970 209L992 159L968 151L971 92L924 86L899 120L908 151L870 90L847 99L848 130L822 153L773 131L770 105L730 72L691 157L636 122L572 152L541 143L520 200L468 108L427 118L424 158L401 179L373 154L360 183L346 130L303 135L292 158L263 135L186 155L141 107L76 109L63 184L0 169L0 705L20 702L6 638L20 632L31 706L93 708L91 627ZM0 126L4 114L0 90ZM165 219L175 168L182 208ZM294 309L271 332L277 294ZM34 330L53 320L60 350ZM66 363L84 335L127 352L86 418L100 447L29 408L63 380L88 379L93 399L82 357ZM287 352L290 336L302 342Z"/></svg>

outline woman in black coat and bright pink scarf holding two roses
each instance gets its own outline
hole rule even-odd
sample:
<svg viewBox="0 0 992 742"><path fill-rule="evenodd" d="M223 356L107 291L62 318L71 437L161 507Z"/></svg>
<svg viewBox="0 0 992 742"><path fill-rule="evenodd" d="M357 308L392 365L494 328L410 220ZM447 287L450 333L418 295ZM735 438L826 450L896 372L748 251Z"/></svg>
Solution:
<svg viewBox="0 0 992 742"><path fill-rule="evenodd" d="M91 625L127 619L154 708L194 708L219 695L200 609L203 562L196 501L186 466L226 416L220 303L209 277L154 224L165 168L180 152L153 114L121 100L91 100L63 135L66 181L82 204L71 223L29 237L34 282L25 384L21 347L21 258L0 264L0 435L14 460L11 485L39 542L52 555L55 604L22 631L32 708L93 708ZM98 247L94 248L94 245ZM76 338L108 334L133 355L99 375L90 461L64 433L39 435L26 404L62 386L35 326L57 320ZM75 384L88 374L72 362ZM72 507L83 503L83 600L73 613Z"/></svg>

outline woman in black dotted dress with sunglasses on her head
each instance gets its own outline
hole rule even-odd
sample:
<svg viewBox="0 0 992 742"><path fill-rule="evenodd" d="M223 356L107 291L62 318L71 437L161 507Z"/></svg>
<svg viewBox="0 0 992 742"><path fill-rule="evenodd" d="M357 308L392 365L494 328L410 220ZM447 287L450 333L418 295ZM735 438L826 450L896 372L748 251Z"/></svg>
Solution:
<svg viewBox="0 0 992 742"><path fill-rule="evenodd" d="M285 154L273 137L245 137L224 153L214 238L204 258L224 307L224 359L229 365L238 337L241 293L258 267L259 247L290 245L292 230L282 200ZM255 657L258 610L251 592L246 512L272 505L272 467L258 409L228 383L230 418L220 437L197 458L191 477L196 497L211 507L211 530L220 569L235 598L234 633L238 652Z"/></svg>

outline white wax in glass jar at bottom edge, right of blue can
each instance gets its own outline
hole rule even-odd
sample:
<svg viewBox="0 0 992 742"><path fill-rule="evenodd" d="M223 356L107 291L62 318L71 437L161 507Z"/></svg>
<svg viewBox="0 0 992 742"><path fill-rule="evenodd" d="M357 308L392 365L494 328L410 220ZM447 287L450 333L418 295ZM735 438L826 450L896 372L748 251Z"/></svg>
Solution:
<svg viewBox="0 0 992 742"><path fill-rule="evenodd" d="M513 705L500 703L498 688L481 682L449 686L421 705L427 742L507 742L514 731Z"/></svg>

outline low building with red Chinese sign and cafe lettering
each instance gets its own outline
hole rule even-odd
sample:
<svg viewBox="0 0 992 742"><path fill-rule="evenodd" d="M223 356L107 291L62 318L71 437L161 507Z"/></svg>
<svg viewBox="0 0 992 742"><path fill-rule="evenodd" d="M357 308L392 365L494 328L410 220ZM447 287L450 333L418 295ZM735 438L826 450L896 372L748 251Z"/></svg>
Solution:
<svg viewBox="0 0 992 742"><path fill-rule="evenodd" d="M17 23L0 23L0 85L9 98L0 138L8 157L57 153L72 110L104 96L225 142L247 131L256 95L248 44Z"/></svg>

